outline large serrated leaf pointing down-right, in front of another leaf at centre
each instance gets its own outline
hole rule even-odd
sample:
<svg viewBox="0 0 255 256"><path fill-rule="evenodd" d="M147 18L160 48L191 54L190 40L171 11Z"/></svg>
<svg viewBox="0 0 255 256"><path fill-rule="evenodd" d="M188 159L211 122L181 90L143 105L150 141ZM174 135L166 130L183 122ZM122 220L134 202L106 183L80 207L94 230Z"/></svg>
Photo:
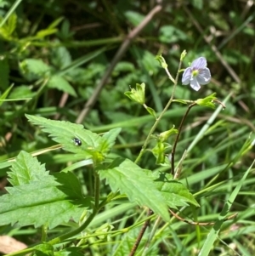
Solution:
<svg viewBox="0 0 255 256"><path fill-rule="evenodd" d="M113 162L111 168L99 170L99 177L106 179L112 191L120 190L131 202L145 205L161 215L165 221L169 220L164 197L156 189L156 185L147 172L134 162L128 159L118 159Z"/></svg>

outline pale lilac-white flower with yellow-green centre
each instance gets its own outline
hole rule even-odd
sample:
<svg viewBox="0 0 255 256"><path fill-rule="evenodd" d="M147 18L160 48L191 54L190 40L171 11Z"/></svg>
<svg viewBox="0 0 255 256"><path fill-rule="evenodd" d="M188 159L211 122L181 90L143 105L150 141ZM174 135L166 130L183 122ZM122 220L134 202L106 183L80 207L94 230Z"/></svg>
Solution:
<svg viewBox="0 0 255 256"><path fill-rule="evenodd" d="M207 60L204 57L200 57L184 70L182 83L184 85L190 83L191 88L198 91L201 88L200 85L207 84L210 80L211 72L207 68Z"/></svg>

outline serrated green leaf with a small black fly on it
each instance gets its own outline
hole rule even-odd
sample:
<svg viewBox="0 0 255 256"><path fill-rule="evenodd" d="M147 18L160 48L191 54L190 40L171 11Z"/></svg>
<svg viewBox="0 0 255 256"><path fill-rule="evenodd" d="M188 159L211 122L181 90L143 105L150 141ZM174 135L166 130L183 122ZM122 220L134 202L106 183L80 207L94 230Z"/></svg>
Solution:
<svg viewBox="0 0 255 256"><path fill-rule="evenodd" d="M54 141L61 143L65 151L71 151L83 156L84 159L93 158L100 162L105 158L106 152L110 151L112 141L108 144L107 138L94 134L85 129L82 124L65 121L49 120L44 117L26 115L30 122L40 125L42 131L50 134ZM113 134L115 134L113 132ZM110 136L111 137L111 136ZM75 139L79 139L81 145L76 145ZM107 145L107 146L105 146Z"/></svg>

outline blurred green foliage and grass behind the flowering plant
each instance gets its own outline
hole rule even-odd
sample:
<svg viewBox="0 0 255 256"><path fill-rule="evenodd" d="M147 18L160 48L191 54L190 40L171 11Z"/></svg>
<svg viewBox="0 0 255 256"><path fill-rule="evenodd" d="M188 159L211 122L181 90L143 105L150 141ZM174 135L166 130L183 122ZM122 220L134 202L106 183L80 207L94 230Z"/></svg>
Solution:
<svg viewBox="0 0 255 256"><path fill-rule="evenodd" d="M73 161L64 151L47 151L54 142L38 128L31 127L25 113L77 122L127 34L139 26L156 3L142 0L0 1L0 93L1 100L6 100L1 102L0 108L2 193L8 182L8 164L4 161L17 156L21 150L46 149L38 159L53 172L59 172ZM184 219L207 222L218 217L229 194L254 160L254 152L243 148L247 140L252 141L255 130L254 5L248 0L231 3L178 0L162 1L162 4L161 11L133 38L121 60L114 65L82 124L97 133L121 127L122 134L111 154L134 160L155 118L142 105L129 100L124 92L144 82L146 105L160 113L172 94L173 83L155 60L156 55L164 56L172 76L178 70L179 56L184 49L188 54L183 67L197 57L206 57L212 82L197 93L190 86L183 86L179 79L175 98L197 100L216 93L218 100L224 100L231 93L224 111L209 123L182 163L181 179L190 191L197 193L196 200L201 208L186 209L181 215ZM11 85L13 87L8 89ZM173 103L156 134L173 125L178 128L185 111L185 105ZM197 106L190 111L178 142L176 161L210 117L212 110L208 108ZM173 144L171 138L169 144ZM154 145L152 141L150 149ZM158 169L150 151L144 154L140 166ZM76 174L82 190L89 191L93 183L89 168L81 168ZM224 232L218 236L210 255L254 254L253 176L254 171L231 208L240 213L238 219L224 225ZM102 190L105 195L109 192L105 185ZM83 247L84 255L127 255L130 252L140 229L138 219L144 218L145 213L121 202L116 212L111 210L108 207L105 215L99 213L88 230L91 234L100 230L105 222L114 224L115 230L130 225L133 229L127 235L123 231L111 236L115 246L107 243L108 236L102 240L91 236L88 243L91 246ZM14 228L3 226L1 233L18 237L28 245L40 241L40 230ZM65 228L63 225L51 230L48 236L57 236ZM156 234L148 255L197 255L210 229L210 226L174 220ZM142 245L149 235L145 234ZM79 245L82 247L82 242Z"/></svg>

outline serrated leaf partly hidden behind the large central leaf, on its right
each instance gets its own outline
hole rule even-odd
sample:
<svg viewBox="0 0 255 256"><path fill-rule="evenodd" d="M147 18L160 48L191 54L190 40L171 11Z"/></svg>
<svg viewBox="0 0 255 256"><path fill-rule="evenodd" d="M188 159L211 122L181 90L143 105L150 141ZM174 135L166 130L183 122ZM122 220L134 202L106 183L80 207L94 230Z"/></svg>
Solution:
<svg viewBox="0 0 255 256"><path fill-rule="evenodd" d="M148 172L148 175L155 180L158 191L170 208L188 206L189 203L200 206L190 191L181 182L173 180L172 175L157 171Z"/></svg>

